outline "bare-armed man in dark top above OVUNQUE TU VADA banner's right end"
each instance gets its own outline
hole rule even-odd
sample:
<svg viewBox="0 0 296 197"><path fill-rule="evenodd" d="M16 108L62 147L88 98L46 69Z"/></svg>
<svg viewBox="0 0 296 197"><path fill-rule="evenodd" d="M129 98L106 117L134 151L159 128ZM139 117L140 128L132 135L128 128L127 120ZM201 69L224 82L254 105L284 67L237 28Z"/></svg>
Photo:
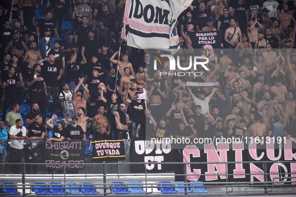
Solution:
<svg viewBox="0 0 296 197"><path fill-rule="evenodd" d="M120 106L116 104L111 109L111 113L115 116L115 122L116 122L116 130L114 133L115 139L126 138L125 135L128 132L128 123L132 122L129 120L129 115L124 112L125 109L126 109L125 103L121 103Z"/></svg>

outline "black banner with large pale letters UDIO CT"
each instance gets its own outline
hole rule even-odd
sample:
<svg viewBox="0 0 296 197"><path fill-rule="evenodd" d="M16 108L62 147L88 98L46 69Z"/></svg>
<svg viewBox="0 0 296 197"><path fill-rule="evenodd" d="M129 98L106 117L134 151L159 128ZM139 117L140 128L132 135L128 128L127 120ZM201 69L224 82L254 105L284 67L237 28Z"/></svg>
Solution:
<svg viewBox="0 0 296 197"><path fill-rule="evenodd" d="M165 143L154 143L150 140L135 140L131 143L130 150L130 161L131 162L181 162L182 155L175 149L172 148L172 144ZM171 164L146 164L147 172L165 172L165 171L176 171L179 168L177 165ZM131 164L132 173L144 173L145 164L133 165Z"/></svg>

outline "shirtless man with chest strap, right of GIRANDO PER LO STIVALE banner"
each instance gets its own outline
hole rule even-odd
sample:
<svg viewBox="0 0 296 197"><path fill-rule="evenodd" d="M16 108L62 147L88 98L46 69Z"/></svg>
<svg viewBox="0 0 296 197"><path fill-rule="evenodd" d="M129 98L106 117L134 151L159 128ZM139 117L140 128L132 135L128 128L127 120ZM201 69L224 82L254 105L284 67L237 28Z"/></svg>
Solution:
<svg viewBox="0 0 296 197"><path fill-rule="evenodd" d="M233 18L229 20L229 24L230 24L230 27L228 27L225 30L224 40L234 48L239 41L242 41L241 31L240 31L240 28L236 26L235 20ZM236 27L236 30L234 33L235 27ZM233 33L234 33L234 36L232 37ZM230 37L232 38L229 41Z"/></svg>

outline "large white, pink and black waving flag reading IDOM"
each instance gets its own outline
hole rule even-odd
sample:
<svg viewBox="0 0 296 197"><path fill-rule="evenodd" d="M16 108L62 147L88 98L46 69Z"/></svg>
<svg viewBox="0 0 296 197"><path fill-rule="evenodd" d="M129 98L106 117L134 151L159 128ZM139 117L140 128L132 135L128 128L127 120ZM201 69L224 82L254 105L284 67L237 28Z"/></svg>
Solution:
<svg viewBox="0 0 296 197"><path fill-rule="evenodd" d="M136 48L177 48L176 20L192 0L127 0L123 39Z"/></svg>

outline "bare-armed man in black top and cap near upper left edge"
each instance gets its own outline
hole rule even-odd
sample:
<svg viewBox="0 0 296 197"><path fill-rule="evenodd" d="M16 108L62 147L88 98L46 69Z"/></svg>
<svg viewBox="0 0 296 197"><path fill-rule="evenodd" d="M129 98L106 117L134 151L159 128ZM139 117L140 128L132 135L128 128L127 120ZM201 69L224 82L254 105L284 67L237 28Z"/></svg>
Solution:
<svg viewBox="0 0 296 197"><path fill-rule="evenodd" d="M24 57L23 50L28 50L27 45L24 41L20 40L20 32L15 30L14 39L8 43L4 52L8 53L11 50L11 55L17 55L19 58Z"/></svg>

